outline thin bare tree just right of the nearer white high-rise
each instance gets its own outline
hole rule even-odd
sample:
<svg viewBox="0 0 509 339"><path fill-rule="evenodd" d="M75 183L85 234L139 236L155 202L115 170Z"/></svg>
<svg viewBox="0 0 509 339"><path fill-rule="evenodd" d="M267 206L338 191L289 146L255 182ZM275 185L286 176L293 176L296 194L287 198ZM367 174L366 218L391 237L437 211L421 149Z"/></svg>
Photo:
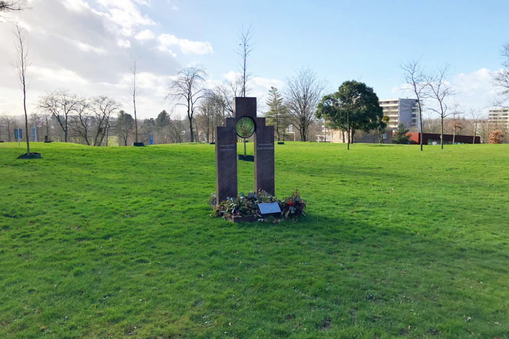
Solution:
<svg viewBox="0 0 509 339"><path fill-rule="evenodd" d="M401 63L400 68L403 70L403 80L408 86L406 90L411 91L417 99L420 132L423 133L422 100L428 96L426 92L428 86L424 69L420 66L420 60L420 58L409 59L406 63ZM422 151L422 138L420 138L420 150Z"/></svg>

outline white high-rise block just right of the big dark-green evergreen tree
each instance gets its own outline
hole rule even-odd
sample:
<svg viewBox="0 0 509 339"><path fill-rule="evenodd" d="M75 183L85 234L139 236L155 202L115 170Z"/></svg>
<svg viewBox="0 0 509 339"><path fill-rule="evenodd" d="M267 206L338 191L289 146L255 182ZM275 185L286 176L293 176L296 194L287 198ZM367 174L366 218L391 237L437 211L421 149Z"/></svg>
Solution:
<svg viewBox="0 0 509 339"><path fill-rule="evenodd" d="M387 129L396 131L403 124L410 132L420 132L417 99L382 99L379 104L390 119Z"/></svg>

